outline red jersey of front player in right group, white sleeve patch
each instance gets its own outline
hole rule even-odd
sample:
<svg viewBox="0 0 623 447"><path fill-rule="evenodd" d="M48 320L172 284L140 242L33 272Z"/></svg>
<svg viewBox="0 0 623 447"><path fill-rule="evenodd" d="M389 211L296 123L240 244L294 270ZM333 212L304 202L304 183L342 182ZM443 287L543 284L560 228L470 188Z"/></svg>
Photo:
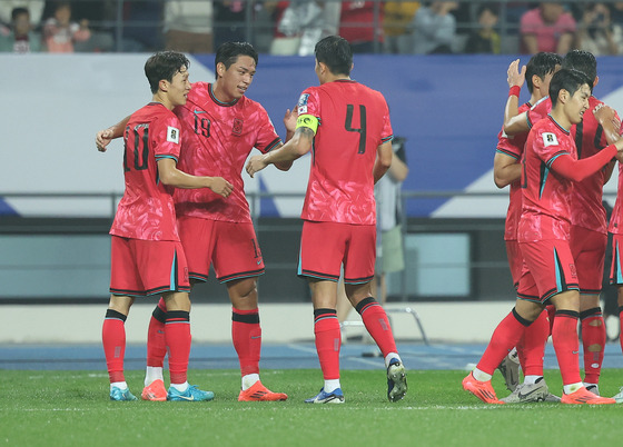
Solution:
<svg viewBox="0 0 623 447"><path fill-rule="evenodd" d="M560 156L577 159L575 142L566 129L547 116L534 125L525 145L520 242L570 239L573 182L552 170Z"/></svg>

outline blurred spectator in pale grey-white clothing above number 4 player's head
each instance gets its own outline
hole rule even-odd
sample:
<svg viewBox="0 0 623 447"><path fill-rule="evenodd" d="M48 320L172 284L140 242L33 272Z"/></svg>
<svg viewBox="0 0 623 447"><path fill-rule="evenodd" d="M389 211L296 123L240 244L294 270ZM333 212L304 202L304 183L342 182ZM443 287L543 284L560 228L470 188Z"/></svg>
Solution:
<svg viewBox="0 0 623 447"><path fill-rule="evenodd" d="M279 1L275 6L277 27L270 53L314 54L317 41L337 34L340 8L336 1Z"/></svg>

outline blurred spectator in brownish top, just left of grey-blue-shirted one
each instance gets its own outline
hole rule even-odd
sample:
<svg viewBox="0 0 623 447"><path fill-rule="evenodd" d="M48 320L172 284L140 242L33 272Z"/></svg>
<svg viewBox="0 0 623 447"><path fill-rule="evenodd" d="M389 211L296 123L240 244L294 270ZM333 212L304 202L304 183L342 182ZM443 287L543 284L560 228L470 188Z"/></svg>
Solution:
<svg viewBox="0 0 623 447"><path fill-rule="evenodd" d="M411 52L409 23L419 8L418 1L387 1L383 18L385 41L383 52L405 54Z"/></svg>

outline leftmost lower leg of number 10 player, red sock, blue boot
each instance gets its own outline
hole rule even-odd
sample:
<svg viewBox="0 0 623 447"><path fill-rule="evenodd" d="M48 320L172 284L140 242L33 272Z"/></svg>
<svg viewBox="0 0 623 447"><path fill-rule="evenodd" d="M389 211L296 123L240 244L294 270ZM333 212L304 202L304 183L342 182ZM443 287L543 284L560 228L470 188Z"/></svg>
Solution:
<svg viewBox="0 0 623 447"><path fill-rule="evenodd" d="M126 355L126 318L134 302L132 297L111 295L101 329L101 340L108 377L110 379L110 400L136 400L123 376Z"/></svg>

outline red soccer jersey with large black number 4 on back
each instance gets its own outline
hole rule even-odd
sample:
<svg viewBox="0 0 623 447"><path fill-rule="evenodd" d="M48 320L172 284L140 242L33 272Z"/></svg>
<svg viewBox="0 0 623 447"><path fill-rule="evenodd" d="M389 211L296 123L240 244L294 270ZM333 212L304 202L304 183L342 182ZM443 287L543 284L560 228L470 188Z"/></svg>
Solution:
<svg viewBox="0 0 623 447"><path fill-rule="evenodd" d="M382 93L353 80L306 89L298 115L319 120L301 218L375 225L376 149L394 136Z"/></svg>

